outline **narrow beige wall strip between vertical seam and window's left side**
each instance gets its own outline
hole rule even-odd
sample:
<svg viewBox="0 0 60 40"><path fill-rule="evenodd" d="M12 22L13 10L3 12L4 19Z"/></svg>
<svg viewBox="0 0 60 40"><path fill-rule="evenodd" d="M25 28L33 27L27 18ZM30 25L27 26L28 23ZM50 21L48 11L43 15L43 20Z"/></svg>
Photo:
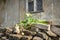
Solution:
<svg viewBox="0 0 60 40"><path fill-rule="evenodd" d="M25 19L26 14L26 0L20 0L20 21Z"/></svg>

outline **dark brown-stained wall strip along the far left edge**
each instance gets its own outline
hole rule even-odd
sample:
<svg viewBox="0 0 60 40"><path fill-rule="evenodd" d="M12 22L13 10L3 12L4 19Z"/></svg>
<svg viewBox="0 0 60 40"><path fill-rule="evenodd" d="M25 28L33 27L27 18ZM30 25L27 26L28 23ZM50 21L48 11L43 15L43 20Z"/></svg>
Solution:
<svg viewBox="0 0 60 40"><path fill-rule="evenodd" d="M3 0L0 0L0 26L4 22L4 9L5 9L5 2Z"/></svg>

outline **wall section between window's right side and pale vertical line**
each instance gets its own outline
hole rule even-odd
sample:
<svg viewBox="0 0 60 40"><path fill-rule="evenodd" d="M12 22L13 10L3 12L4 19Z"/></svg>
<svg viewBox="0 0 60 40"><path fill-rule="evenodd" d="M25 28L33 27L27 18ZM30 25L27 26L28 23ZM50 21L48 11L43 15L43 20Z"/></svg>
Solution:
<svg viewBox="0 0 60 40"><path fill-rule="evenodd" d="M43 0L44 12L41 13L41 19L52 20L53 0Z"/></svg>

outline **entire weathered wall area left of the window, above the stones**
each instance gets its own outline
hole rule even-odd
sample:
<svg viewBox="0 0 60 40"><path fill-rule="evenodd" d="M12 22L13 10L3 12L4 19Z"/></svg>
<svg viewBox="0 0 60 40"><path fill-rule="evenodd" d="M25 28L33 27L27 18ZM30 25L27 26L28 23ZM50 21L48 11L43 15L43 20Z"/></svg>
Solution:
<svg viewBox="0 0 60 40"><path fill-rule="evenodd" d="M14 26L24 19L25 0L0 0L0 25L2 27Z"/></svg>

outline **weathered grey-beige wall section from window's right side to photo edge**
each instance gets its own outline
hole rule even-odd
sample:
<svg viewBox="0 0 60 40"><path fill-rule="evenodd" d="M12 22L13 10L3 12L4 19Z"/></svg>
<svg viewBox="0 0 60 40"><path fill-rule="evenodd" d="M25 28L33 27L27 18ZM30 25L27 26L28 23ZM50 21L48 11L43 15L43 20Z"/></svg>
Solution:
<svg viewBox="0 0 60 40"><path fill-rule="evenodd" d="M52 20L53 24L60 24L60 0L44 0L42 19Z"/></svg>

